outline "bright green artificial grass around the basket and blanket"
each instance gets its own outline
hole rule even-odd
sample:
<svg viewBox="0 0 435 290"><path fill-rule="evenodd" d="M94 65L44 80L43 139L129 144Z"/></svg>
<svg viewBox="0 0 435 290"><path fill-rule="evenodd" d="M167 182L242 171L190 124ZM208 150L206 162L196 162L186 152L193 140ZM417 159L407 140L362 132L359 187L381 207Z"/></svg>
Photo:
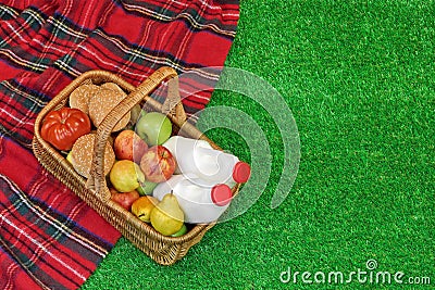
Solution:
<svg viewBox="0 0 435 290"><path fill-rule="evenodd" d="M288 197L271 209L285 162L274 116L216 90L209 106L248 114L270 144L271 175L259 199L173 266L122 238L83 289L419 288L410 277L431 278L433 287L434 17L434 1L243 0L226 65L263 78L293 112L301 156ZM207 127L213 116L203 116ZM209 134L251 159L231 129ZM402 272L403 285L371 280L369 260L374 274ZM324 273L326 281L283 283L288 268L310 272L311 280ZM368 272L365 282L327 282L331 272L346 280L358 269Z"/></svg>

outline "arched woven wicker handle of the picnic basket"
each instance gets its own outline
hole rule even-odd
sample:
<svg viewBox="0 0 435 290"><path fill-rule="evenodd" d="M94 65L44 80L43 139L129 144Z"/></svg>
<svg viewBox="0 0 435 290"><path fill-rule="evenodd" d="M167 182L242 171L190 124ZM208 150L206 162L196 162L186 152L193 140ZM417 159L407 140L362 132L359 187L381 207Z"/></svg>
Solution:
<svg viewBox="0 0 435 290"><path fill-rule="evenodd" d="M149 94L166 79L170 79L167 83L167 97L165 102L161 104L157 100L150 98ZM160 67L152 73L144 83L133 90L127 98L122 100L119 105L109 112L97 128L97 136L94 143L92 166L90 168L90 176L86 182L87 188L95 189L96 193L101 194L103 199L110 198L109 190L104 190L107 189L103 169L105 143L117 122L141 100L145 100L147 105L166 114L172 122L176 122L178 125L183 125L186 121L186 113L179 98L177 73L175 70L167 66Z"/></svg>

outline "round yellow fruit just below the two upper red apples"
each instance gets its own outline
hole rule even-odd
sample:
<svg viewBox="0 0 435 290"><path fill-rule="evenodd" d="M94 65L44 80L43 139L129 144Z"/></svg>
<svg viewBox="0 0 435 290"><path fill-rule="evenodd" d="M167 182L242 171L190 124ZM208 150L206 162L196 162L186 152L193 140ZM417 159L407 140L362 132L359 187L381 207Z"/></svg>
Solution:
<svg viewBox="0 0 435 290"><path fill-rule="evenodd" d="M109 175L112 186L120 192L136 190L145 181L139 165L130 160L120 160L113 164Z"/></svg>

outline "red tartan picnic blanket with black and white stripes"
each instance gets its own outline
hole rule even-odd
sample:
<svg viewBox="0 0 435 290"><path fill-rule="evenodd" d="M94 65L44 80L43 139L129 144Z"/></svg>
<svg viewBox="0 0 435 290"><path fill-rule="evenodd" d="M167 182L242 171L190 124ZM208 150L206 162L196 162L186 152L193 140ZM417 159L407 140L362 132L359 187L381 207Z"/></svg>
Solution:
<svg viewBox="0 0 435 290"><path fill-rule="evenodd" d="M0 0L0 289L77 289L121 236L37 162L38 112L89 70L137 86L223 66L238 16L238 0ZM184 99L187 115L211 93Z"/></svg>

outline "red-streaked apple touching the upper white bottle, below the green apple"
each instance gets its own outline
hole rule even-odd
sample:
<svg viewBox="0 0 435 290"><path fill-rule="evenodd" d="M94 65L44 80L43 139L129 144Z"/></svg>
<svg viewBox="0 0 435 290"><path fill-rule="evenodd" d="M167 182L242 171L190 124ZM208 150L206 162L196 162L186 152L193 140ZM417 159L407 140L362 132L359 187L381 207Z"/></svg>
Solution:
<svg viewBox="0 0 435 290"><path fill-rule="evenodd" d="M153 146L148 149L140 160L140 169L148 181L163 182L174 174L175 157L163 146Z"/></svg>

